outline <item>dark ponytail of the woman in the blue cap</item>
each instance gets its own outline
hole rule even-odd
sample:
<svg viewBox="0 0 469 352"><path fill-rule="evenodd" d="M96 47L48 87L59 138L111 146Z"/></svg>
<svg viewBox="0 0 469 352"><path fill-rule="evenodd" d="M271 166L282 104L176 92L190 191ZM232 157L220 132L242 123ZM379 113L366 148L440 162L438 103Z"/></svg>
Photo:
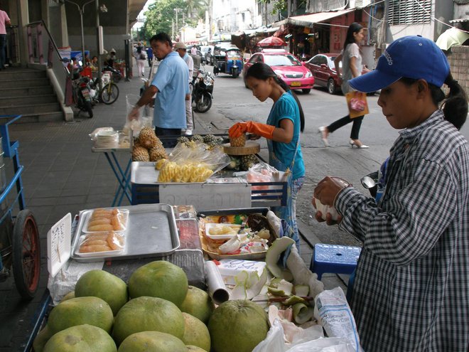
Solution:
<svg viewBox="0 0 469 352"><path fill-rule="evenodd" d="M446 78L445 84L448 85L450 91L441 105L441 110L445 114L445 119L460 129L468 117L468 97L451 73Z"/></svg>

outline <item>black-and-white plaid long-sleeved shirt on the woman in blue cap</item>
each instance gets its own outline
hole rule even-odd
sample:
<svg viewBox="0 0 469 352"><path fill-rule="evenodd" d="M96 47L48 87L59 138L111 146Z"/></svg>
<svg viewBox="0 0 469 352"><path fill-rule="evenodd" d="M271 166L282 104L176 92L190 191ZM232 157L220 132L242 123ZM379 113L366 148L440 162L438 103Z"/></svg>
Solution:
<svg viewBox="0 0 469 352"><path fill-rule="evenodd" d="M441 110L404 129L379 206L335 203L363 242L352 311L367 352L469 351L469 145Z"/></svg>

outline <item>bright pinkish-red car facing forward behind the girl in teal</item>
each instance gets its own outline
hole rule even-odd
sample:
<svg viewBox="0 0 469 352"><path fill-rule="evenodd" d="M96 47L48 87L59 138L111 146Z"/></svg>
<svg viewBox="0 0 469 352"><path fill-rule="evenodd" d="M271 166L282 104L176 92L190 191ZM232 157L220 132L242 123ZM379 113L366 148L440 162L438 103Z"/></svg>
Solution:
<svg viewBox="0 0 469 352"><path fill-rule="evenodd" d="M254 53L244 64L243 76L254 63L266 63L286 82L292 90L302 90L308 94L314 85L313 74L301 65L293 54L284 49L264 49ZM247 87L246 80L244 85Z"/></svg>

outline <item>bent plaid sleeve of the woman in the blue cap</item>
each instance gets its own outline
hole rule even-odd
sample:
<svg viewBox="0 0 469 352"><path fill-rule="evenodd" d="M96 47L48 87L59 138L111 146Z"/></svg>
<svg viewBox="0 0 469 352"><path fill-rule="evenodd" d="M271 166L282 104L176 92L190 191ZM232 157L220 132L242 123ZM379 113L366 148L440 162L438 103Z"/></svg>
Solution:
<svg viewBox="0 0 469 352"><path fill-rule="evenodd" d="M370 206L353 189L341 192L336 201L343 215L340 227L395 265L426 255L455 214L456 188L440 164L422 160L412 179L386 199L384 208Z"/></svg>

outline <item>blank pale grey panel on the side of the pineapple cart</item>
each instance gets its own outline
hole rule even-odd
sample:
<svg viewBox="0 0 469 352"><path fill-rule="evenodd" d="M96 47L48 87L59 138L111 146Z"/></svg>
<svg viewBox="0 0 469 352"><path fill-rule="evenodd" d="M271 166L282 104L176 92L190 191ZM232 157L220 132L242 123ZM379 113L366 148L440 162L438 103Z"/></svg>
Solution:
<svg viewBox="0 0 469 352"><path fill-rule="evenodd" d="M192 183L160 185L160 203L194 206L196 210L251 208L251 185Z"/></svg>

